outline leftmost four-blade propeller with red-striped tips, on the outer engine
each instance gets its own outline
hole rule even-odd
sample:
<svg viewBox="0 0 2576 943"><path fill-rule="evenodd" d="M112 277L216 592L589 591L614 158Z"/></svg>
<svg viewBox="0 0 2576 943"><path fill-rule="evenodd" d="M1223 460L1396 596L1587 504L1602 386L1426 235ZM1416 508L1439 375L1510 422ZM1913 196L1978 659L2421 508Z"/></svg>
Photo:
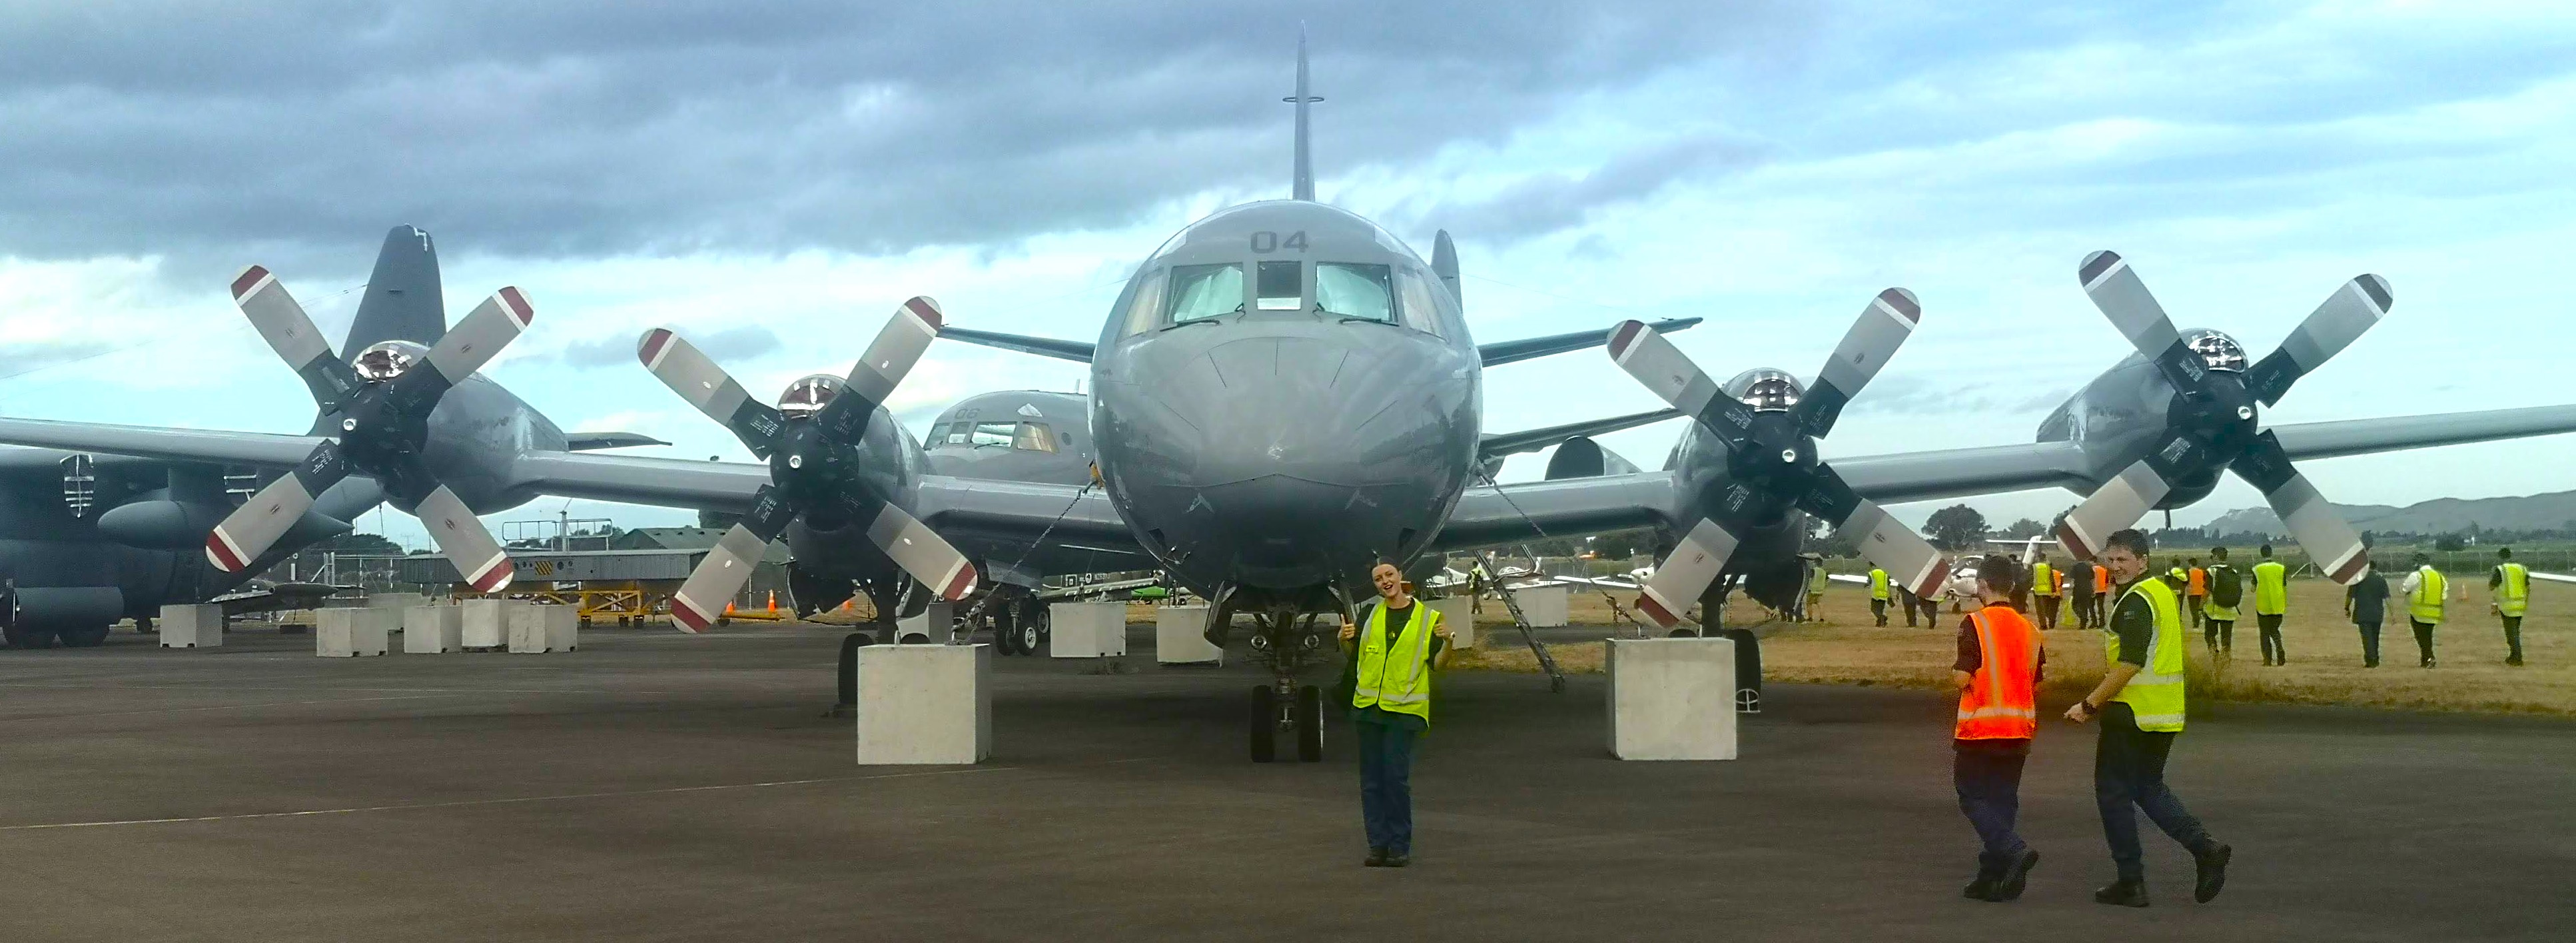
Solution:
<svg viewBox="0 0 2576 943"><path fill-rule="evenodd" d="M206 559L216 569L240 572L286 536L325 490L350 474L374 477L386 497L420 515L438 551L456 564L474 590L495 593L510 585L510 557L484 531L474 510L456 497L420 459L430 438L430 410L466 376L474 376L500 348L507 348L536 309L518 289L500 289L448 327L438 345L412 361L407 350L368 348L358 368L340 361L312 317L296 304L278 276L250 265L232 281L232 301L250 317L278 358L312 386L322 415L337 415L337 438L314 446L304 464L270 482L206 536ZM417 348L412 348L417 350Z"/></svg>

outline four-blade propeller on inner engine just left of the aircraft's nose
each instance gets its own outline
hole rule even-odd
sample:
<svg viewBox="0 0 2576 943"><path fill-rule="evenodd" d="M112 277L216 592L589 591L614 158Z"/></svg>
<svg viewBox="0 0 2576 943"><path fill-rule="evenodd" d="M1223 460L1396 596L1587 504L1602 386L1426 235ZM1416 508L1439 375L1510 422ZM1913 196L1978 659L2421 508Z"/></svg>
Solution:
<svg viewBox="0 0 2576 943"><path fill-rule="evenodd" d="M927 296L904 301L876 335L845 381L791 389L799 412L752 399L716 361L680 335L654 327L636 343L636 358L680 399L734 430L755 456L770 461L770 484L752 495L750 513L706 554L672 595L672 621L703 631L724 603L752 577L752 564L799 515L814 528L866 526L896 567L945 600L976 585L974 564L935 531L904 513L884 484L863 474L860 435L894 384L912 371L940 332L940 307Z"/></svg>

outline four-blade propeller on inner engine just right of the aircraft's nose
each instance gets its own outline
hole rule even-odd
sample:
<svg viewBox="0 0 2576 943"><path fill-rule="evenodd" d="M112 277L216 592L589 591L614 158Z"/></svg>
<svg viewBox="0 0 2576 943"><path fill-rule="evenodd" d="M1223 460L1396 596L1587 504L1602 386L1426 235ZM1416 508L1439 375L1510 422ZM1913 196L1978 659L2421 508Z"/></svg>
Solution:
<svg viewBox="0 0 2576 943"><path fill-rule="evenodd" d="M1610 358L1674 410L1692 415L1728 451L1726 490L1646 580L1638 611L1664 629L1682 624L1680 613L1726 569L1744 531L1775 523L1790 508L1824 518L1837 531L1862 531L1862 557L1893 575L1896 585L1932 595L1947 580L1950 564L1932 544L1855 495L1816 459L1816 438L1834 430L1842 407L1878 376L1919 319L1922 307L1911 291L1880 291L1788 412L1754 410L1728 397L1654 327L1623 322L1610 332Z"/></svg>

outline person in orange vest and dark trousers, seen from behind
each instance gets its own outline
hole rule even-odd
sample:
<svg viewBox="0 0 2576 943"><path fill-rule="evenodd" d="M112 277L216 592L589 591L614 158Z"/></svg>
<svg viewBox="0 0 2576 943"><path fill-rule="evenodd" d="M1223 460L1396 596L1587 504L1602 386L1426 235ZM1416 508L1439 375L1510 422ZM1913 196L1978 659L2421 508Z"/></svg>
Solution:
<svg viewBox="0 0 2576 943"><path fill-rule="evenodd" d="M2007 902L2022 897L2040 853L2012 830L2022 809L2022 763L2038 732L2040 631L2012 608L2022 582L2020 564L1991 554L1976 564L1976 600L1984 603L1958 624L1958 660L1950 680L1958 685L1958 727L1950 732L1950 781L1958 786L1958 812L1968 814L1984 850L1976 855L1976 881L1965 897Z"/></svg>

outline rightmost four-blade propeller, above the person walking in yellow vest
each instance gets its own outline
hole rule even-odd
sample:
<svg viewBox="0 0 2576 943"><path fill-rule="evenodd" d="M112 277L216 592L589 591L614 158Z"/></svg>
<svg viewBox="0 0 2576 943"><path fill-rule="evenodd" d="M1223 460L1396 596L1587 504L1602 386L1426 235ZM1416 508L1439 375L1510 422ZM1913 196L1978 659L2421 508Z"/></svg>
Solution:
<svg viewBox="0 0 2576 943"><path fill-rule="evenodd" d="M2112 531L2138 523L2177 482L2208 479L2221 466L2254 484L2280 520L2308 549L2308 559L2336 582L2352 585L2370 564L2360 533L2290 466L2272 433L2254 430L2254 405L2275 405L2290 384L2316 371L2388 314L2388 278L2357 276L2280 343L2254 368L2213 366L2195 350L2138 273L2115 252L2094 252L2076 271L2102 317L2174 384L2164 438L2092 497L2066 513L2058 541L2092 559ZM2233 348L2233 343L2228 345ZM2241 361L2241 358L2239 358Z"/></svg>

